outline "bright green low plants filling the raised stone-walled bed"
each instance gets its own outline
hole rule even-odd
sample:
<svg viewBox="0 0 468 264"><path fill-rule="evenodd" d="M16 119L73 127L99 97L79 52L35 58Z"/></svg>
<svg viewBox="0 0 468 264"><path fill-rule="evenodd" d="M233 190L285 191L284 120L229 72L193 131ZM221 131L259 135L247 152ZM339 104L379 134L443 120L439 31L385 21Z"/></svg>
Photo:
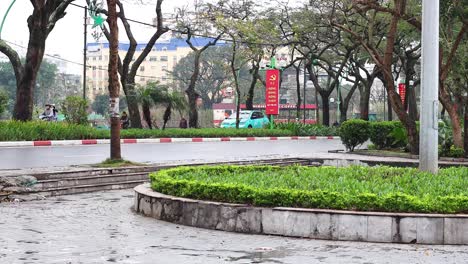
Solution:
<svg viewBox="0 0 468 264"><path fill-rule="evenodd" d="M183 167L150 174L153 190L255 206L468 213L468 168L438 175L391 167Z"/></svg>

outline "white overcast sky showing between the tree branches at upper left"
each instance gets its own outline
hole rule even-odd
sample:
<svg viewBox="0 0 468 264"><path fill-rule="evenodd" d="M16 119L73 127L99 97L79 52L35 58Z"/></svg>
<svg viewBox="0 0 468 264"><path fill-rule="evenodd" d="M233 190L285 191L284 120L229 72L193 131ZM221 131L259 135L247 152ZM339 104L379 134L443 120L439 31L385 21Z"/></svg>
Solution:
<svg viewBox="0 0 468 264"><path fill-rule="evenodd" d="M9 4L12 0L0 0L0 19L3 18ZM155 5L136 5L129 4L126 1L125 12L128 18L133 18L147 23L152 23L152 18L155 16ZM136 0L134 2L137 2ZM76 0L74 3L84 5L85 0ZM163 12L173 13L174 8L193 3L190 0L166 0L163 2ZM16 3L11 9L2 32L2 39L17 43L22 46L27 46L29 39L29 31L26 20L32 13L32 5L30 0L16 0ZM52 33L49 35L46 43L46 54L59 54L63 58L81 63L83 61L83 17L84 10L79 7L70 6L67 9L67 15L61 19L55 26ZM0 20L1 22L1 20ZM135 38L139 42L146 42L153 29L149 27L131 24L134 30ZM88 32L91 31L91 26L88 27ZM125 33L121 29L121 41L126 41ZM149 35L149 36L148 36ZM102 38L105 40L105 37ZM88 42L94 42L91 35L88 35ZM20 49L12 46L16 50ZM25 50L23 50L25 54ZM80 73L79 65L69 64L70 70L73 73Z"/></svg>

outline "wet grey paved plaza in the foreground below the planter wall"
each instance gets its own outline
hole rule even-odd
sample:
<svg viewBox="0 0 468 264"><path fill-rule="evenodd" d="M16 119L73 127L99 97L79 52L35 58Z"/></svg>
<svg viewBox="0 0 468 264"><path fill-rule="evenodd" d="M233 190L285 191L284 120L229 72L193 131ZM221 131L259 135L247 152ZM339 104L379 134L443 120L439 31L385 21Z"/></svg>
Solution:
<svg viewBox="0 0 468 264"><path fill-rule="evenodd" d="M131 190L0 204L0 263L468 263L467 246L211 231L134 214Z"/></svg>

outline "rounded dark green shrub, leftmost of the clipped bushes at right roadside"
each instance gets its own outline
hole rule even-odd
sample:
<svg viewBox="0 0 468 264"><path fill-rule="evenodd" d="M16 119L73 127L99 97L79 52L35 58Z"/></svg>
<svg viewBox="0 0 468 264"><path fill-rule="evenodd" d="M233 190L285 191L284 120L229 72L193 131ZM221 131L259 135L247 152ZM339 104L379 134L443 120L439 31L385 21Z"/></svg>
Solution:
<svg viewBox="0 0 468 264"><path fill-rule="evenodd" d="M338 134L346 149L354 151L369 139L370 125L368 121L361 119L347 120L341 124Z"/></svg>

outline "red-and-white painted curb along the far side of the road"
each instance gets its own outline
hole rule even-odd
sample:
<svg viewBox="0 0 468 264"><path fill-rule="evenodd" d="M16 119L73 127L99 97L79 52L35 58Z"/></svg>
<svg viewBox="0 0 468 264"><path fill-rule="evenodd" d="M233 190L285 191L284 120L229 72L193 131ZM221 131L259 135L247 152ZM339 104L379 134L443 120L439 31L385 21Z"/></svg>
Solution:
<svg viewBox="0 0 468 264"><path fill-rule="evenodd" d="M139 143L182 143L182 142L225 142L225 141L271 141L271 140L337 140L340 137L219 137L219 138L141 138L121 139L122 144ZM45 146L76 146L109 144L109 139L83 139L83 140L37 140L37 141L1 141L0 147L45 147Z"/></svg>

